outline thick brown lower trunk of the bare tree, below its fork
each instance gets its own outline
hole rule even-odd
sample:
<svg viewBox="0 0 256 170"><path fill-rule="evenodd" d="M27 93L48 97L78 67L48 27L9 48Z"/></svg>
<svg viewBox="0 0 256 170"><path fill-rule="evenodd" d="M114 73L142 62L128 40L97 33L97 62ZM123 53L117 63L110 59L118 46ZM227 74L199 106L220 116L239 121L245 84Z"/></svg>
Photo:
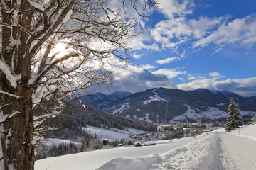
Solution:
<svg viewBox="0 0 256 170"><path fill-rule="evenodd" d="M18 99L3 109L4 115L14 111L19 112L3 123L4 133L1 133L1 145L5 170L31 170L35 162L35 146L31 143L34 132L32 91L21 89L21 93L22 99Z"/></svg>

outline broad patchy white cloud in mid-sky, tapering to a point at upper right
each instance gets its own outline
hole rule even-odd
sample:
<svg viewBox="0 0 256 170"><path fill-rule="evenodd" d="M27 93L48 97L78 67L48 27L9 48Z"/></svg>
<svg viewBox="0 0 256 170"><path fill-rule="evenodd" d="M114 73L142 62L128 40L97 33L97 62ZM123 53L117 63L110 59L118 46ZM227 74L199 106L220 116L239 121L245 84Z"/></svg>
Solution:
<svg viewBox="0 0 256 170"><path fill-rule="evenodd" d="M162 47L178 47L189 41L198 40L213 32L228 16L219 18L208 18L206 16L196 19L186 17L168 18L160 21L150 30L156 42L161 43Z"/></svg>

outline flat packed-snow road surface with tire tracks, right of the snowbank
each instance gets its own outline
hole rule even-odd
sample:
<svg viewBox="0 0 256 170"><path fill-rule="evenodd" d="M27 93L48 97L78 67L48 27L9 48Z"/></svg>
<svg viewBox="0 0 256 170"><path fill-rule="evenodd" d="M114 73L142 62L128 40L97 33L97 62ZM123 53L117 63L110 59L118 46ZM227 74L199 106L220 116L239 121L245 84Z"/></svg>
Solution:
<svg viewBox="0 0 256 170"><path fill-rule="evenodd" d="M254 140L228 133L219 133L219 136L225 169L256 169L256 142Z"/></svg>

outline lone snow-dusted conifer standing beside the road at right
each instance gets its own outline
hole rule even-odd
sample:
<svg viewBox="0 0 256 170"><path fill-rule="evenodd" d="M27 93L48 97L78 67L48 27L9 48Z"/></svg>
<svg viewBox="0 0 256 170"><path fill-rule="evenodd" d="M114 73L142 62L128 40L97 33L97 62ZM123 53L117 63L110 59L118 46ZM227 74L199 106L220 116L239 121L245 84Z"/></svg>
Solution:
<svg viewBox="0 0 256 170"><path fill-rule="evenodd" d="M227 123L225 124L226 131L235 130L235 128L239 128L239 126L243 125L242 118L240 117L240 111L238 104L235 103L234 98L230 99L230 105L228 106L228 118Z"/></svg>

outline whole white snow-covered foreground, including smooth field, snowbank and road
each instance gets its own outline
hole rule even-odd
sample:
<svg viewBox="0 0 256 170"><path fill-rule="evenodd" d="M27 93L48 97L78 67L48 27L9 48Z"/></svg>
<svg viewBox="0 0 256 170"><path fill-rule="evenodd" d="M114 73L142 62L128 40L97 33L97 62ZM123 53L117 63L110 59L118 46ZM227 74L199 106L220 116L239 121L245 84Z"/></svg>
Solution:
<svg viewBox="0 0 256 170"><path fill-rule="evenodd" d="M240 133L240 134L239 134ZM256 125L153 146L117 147L38 160L36 170L256 169Z"/></svg>

